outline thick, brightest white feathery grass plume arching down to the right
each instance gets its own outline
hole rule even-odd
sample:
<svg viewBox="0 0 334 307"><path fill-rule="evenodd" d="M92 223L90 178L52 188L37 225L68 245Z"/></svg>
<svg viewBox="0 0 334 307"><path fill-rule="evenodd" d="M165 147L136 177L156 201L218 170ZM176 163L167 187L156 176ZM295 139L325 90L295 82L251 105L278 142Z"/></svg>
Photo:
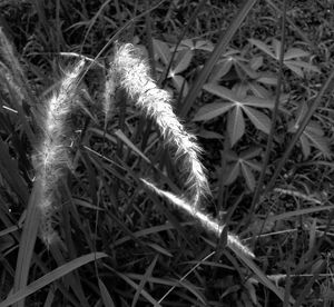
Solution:
<svg viewBox="0 0 334 307"><path fill-rule="evenodd" d="M149 75L149 66L140 50L131 43L116 47L111 68L117 72L119 85L136 101L136 106L151 117L167 145L176 148L176 159L180 160L187 175L186 187L194 208L202 196L210 194L205 170L199 161L200 148L196 137L185 130L171 108L171 97L159 89Z"/></svg>

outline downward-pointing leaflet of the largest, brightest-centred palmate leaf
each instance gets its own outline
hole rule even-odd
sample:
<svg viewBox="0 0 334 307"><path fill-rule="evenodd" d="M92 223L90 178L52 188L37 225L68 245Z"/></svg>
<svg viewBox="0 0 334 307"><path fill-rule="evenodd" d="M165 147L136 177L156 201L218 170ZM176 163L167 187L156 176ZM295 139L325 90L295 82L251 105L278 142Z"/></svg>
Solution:
<svg viewBox="0 0 334 307"><path fill-rule="evenodd" d="M235 107L228 115L227 132L233 147L245 133L245 119L242 107Z"/></svg>

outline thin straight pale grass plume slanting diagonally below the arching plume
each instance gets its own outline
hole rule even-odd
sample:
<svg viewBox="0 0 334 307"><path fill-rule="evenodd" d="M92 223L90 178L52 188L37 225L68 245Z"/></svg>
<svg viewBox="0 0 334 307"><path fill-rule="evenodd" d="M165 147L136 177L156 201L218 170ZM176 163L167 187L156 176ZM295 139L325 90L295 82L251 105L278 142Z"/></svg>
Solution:
<svg viewBox="0 0 334 307"><path fill-rule="evenodd" d="M213 219L204 211L194 210L194 208L189 204L187 204L184 199L175 196L174 194L164 191L145 179L141 179L141 181L157 195L167 198L170 202L177 206L177 208L180 208L184 212L191 216L195 220L199 221L206 230L215 234L218 238L220 238L224 225L220 225L217 220ZM227 234L227 246L236 254L242 252L250 258L255 258L253 251L248 247L243 245L240 239L234 234Z"/></svg>

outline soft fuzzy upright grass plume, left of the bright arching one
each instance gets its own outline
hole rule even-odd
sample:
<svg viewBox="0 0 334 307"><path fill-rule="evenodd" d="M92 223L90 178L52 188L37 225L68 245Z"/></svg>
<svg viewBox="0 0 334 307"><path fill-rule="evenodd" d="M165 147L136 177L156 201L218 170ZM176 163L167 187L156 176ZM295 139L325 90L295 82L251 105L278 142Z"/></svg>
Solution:
<svg viewBox="0 0 334 307"><path fill-rule="evenodd" d="M58 91L46 106L43 137L36 157L38 180L41 180L42 187L42 196L38 202L41 210L40 235L46 245L50 245L57 237L52 226L52 215L57 208L57 184L69 165L67 119L72 110L72 100L84 67L82 59L66 72Z"/></svg>

